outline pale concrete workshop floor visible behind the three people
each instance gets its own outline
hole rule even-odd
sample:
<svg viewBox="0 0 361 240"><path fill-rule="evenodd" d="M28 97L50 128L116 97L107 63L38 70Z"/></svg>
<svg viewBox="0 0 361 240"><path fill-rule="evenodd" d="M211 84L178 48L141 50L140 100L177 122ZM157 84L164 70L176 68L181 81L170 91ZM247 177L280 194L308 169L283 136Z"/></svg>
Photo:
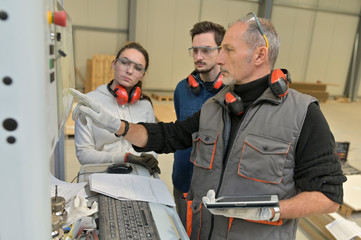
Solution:
<svg viewBox="0 0 361 240"><path fill-rule="evenodd" d="M173 104L173 102L158 102L159 104ZM157 101L153 100L153 104ZM339 102L328 101L321 103L321 110L324 113L330 128L337 142L350 142L348 154L349 164L361 170L361 101ZM70 182L78 173L80 165L75 155L74 139L67 137L65 140L65 180ZM173 192L171 182L173 154L159 155L162 174L160 178L166 183L169 191ZM311 239L301 229L297 231L297 240Z"/></svg>

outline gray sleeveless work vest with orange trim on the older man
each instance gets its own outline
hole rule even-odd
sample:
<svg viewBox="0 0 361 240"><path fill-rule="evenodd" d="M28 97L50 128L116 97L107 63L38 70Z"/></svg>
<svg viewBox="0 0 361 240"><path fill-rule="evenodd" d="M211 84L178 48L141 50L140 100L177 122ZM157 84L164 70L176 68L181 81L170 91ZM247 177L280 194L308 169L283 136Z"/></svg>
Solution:
<svg viewBox="0 0 361 240"><path fill-rule="evenodd" d="M231 120L224 96L229 90L226 87L203 105L199 132L193 134L191 162L195 167L187 196L193 213L190 238L295 239L297 219L282 219L282 225L274 226L212 215L202 197L209 189L216 191L216 197L295 196L295 148L308 106L317 100L293 89L276 98L268 88L247 109L226 155Z"/></svg>

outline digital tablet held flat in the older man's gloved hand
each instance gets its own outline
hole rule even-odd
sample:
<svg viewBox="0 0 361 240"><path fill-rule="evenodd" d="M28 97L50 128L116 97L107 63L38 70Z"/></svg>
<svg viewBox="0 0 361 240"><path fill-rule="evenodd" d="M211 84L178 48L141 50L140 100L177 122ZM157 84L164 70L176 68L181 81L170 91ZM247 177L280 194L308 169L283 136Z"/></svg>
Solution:
<svg viewBox="0 0 361 240"><path fill-rule="evenodd" d="M207 208L259 208L272 206L278 206L277 195L219 197L215 202L206 204Z"/></svg>

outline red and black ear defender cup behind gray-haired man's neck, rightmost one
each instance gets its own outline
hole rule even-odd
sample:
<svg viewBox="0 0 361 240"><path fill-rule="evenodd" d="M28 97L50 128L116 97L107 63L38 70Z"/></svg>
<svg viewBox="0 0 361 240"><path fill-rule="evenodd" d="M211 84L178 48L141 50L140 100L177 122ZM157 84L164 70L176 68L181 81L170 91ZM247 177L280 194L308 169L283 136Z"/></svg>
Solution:
<svg viewBox="0 0 361 240"><path fill-rule="evenodd" d="M276 97L287 95L291 77L286 69L275 69L272 71L268 84Z"/></svg>

